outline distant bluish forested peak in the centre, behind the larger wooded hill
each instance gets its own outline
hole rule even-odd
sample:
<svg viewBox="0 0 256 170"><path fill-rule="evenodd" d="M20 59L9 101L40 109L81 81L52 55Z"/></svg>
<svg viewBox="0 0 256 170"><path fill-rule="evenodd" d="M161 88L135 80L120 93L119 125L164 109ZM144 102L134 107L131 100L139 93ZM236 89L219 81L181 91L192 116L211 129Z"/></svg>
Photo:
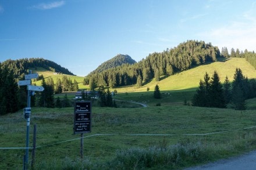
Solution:
<svg viewBox="0 0 256 170"><path fill-rule="evenodd" d="M129 55L117 55L112 59L102 63L98 68L92 71L90 74L101 73L104 70L108 70L109 68L122 66L123 64L134 64L135 60L131 59ZM90 75L89 74L89 75Z"/></svg>

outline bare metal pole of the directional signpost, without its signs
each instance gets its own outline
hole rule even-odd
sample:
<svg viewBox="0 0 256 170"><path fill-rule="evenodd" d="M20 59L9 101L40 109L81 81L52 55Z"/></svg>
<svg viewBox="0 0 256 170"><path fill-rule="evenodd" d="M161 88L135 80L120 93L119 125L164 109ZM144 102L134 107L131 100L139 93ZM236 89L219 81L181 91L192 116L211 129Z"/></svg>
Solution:
<svg viewBox="0 0 256 170"><path fill-rule="evenodd" d="M29 70L29 74L31 74ZM27 107L30 107L30 91L27 90ZM26 157L25 157L25 167L29 167L29 125L30 125L30 115L27 116L27 135L26 135Z"/></svg>

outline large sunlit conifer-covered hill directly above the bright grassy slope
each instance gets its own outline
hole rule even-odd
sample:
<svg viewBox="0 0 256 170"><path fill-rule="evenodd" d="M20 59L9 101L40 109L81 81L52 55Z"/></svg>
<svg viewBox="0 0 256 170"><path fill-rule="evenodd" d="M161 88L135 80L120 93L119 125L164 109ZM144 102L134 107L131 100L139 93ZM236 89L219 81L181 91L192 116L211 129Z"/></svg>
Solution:
<svg viewBox="0 0 256 170"><path fill-rule="evenodd" d="M160 75L172 75L201 64L215 62L221 57L218 47L204 41L187 41L176 48L155 52L133 65L126 64L90 74L84 79L85 84L97 86L138 86Z"/></svg>

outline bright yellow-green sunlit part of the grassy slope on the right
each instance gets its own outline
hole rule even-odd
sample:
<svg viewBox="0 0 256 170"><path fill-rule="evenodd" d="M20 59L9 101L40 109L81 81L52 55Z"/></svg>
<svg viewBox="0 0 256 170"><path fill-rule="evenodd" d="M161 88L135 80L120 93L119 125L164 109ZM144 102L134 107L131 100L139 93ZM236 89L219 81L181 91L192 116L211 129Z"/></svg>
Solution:
<svg viewBox="0 0 256 170"><path fill-rule="evenodd" d="M181 73L164 78L159 82L155 82L153 79L150 83L138 89L134 88L134 86L118 88L118 92L143 92L146 91L147 87L150 88L150 91L154 91L156 84L159 85L160 91L174 91L197 88L200 79L204 78L205 73L207 72L211 77L215 70L219 74L222 82L226 76L229 78L229 81L232 82L236 68L241 68L243 74L249 79L256 78L255 68L251 66L251 64L248 63L245 59L230 58L225 62L214 62L204 66L191 68L187 71L182 71Z"/></svg>

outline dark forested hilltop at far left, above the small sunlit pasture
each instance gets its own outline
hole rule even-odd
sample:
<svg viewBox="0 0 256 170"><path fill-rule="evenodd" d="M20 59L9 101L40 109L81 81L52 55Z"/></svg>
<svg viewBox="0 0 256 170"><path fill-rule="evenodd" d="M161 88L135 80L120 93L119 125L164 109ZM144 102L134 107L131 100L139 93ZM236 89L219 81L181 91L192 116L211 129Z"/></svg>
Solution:
<svg viewBox="0 0 256 170"><path fill-rule="evenodd" d="M55 62L42 58L6 60L5 62L1 63L1 66L6 66L9 70L12 70L15 78L22 78L24 74L28 73L29 68L35 68L36 70L37 67L42 67L45 68L45 70L54 71L57 73L74 75L69 70L67 70L67 68L63 68Z"/></svg>

